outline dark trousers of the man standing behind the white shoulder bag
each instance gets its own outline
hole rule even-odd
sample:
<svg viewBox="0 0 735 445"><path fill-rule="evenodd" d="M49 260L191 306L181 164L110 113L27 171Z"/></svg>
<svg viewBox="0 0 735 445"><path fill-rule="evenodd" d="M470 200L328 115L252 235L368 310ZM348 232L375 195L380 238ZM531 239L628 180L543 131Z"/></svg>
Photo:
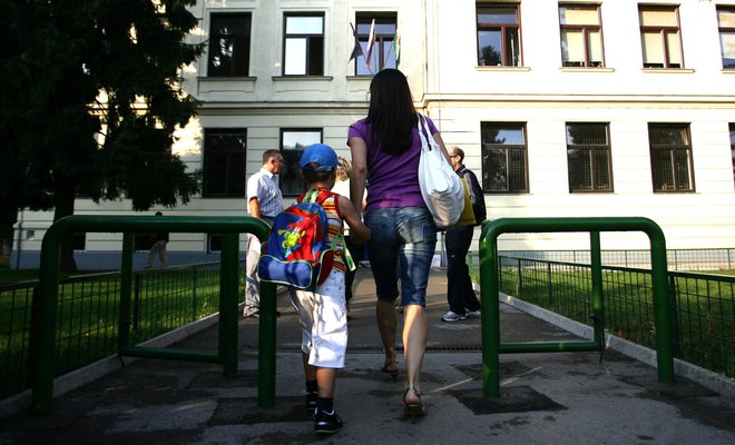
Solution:
<svg viewBox="0 0 735 445"><path fill-rule="evenodd" d="M472 226L448 229L444 236L447 248L447 301L454 314L464 315L467 310L478 310L480 300L472 289L470 268L467 265L467 253L472 243Z"/></svg>

